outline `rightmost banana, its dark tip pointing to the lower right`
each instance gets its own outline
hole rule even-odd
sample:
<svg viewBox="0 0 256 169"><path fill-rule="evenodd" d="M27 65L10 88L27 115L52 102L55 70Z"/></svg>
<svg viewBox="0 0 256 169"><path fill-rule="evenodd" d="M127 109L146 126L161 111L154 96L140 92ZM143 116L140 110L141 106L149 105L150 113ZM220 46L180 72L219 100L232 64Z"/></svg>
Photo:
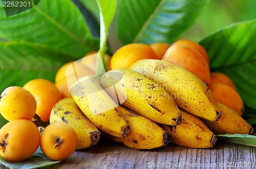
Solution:
<svg viewBox="0 0 256 169"><path fill-rule="evenodd" d="M202 119L204 124L215 134L253 134L253 128L235 111L218 103L222 115L218 122Z"/></svg>

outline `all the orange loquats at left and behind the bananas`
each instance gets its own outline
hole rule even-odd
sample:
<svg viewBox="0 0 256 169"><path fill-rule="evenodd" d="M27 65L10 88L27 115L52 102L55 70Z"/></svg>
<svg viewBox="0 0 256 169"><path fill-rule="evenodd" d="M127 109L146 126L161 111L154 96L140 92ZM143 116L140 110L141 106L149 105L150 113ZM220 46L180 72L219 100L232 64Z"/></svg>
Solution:
<svg viewBox="0 0 256 169"><path fill-rule="evenodd" d="M244 105L236 86L225 74L210 72L208 54L200 44L186 39L171 45L132 43L122 46L112 57L105 54L107 70L129 68L141 59L159 59L189 70L208 85L218 102L240 116L243 114ZM66 69L72 63L58 69L55 84L46 79L34 79L23 87L10 86L2 92L0 113L9 121L0 129L0 155L4 159L10 162L25 160L39 146L52 160L66 159L73 154L77 144L75 130L66 123L47 123L53 106L59 100L71 97L67 77L74 75L69 75ZM81 60L76 68L82 76L93 76L96 60L91 60L91 64ZM38 128L41 126L45 128L40 133Z"/></svg>

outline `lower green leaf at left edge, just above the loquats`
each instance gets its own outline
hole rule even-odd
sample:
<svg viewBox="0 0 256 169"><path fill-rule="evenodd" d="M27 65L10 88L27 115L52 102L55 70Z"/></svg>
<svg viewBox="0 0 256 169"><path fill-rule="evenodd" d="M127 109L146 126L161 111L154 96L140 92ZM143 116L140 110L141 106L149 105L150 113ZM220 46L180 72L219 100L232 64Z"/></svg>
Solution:
<svg viewBox="0 0 256 169"><path fill-rule="evenodd" d="M0 42L0 92L8 86L23 86L44 78L54 82L60 66L74 60L51 46L28 42Z"/></svg>

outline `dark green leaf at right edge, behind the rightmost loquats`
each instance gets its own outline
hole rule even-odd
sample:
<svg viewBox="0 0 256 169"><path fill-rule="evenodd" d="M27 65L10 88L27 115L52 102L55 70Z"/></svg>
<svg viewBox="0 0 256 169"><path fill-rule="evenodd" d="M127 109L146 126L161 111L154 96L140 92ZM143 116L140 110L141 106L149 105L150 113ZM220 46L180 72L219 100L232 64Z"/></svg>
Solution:
<svg viewBox="0 0 256 169"><path fill-rule="evenodd" d="M211 71L228 75L244 104L256 109L256 20L233 23L199 43L208 52Z"/></svg>

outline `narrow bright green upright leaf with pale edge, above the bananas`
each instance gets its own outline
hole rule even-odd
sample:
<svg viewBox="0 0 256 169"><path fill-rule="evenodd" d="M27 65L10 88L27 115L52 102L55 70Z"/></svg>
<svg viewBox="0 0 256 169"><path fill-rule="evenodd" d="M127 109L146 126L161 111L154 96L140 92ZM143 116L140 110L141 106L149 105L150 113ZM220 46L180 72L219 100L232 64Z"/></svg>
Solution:
<svg viewBox="0 0 256 169"><path fill-rule="evenodd" d="M110 24L115 16L117 0L96 0L100 10L100 49L99 53L101 59L97 59L97 75L103 74L101 68L98 66L103 61L103 65L106 68L106 61L104 54L106 52L106 39L108 38L108 31ZM102 61L101 61L102 60Z"/></svg>

